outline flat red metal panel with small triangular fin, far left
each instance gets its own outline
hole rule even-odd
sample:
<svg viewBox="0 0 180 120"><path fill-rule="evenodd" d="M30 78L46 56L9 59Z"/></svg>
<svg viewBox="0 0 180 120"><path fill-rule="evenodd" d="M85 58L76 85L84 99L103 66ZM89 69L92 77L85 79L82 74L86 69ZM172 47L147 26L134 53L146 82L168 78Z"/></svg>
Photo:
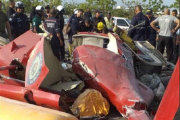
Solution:
<svg viewBox="0 0 180 120"><path fill-rule="evenodd" d="M29 55L41 37L34 34L32 31L27 31L25 34L21 35L13 42L7 44L6 46L0 47L0 67L8 66L11 64L12 60L18 59L23 65L27 65ZM0 71L0 74L9 76L8 70ZM18 85L17 82L4 79L7 84Z"/></svg>

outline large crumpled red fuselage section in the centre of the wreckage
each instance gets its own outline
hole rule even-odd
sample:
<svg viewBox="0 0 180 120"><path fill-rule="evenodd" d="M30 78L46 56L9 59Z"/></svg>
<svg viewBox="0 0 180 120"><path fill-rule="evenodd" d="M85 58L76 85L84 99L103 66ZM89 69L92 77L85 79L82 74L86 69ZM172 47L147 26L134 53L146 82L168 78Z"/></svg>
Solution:
<svg viewBox="0 0 180 120"><path fill-rule="evenodd" d="M83 77L88 87L99 90L108 98L121 114L126 115L127 108L146 109L147 105L138 91L133 64L128 61L132 58L124 58L132 56L120 56L89 45L76 48L73 56L74 72Z"/></svg>

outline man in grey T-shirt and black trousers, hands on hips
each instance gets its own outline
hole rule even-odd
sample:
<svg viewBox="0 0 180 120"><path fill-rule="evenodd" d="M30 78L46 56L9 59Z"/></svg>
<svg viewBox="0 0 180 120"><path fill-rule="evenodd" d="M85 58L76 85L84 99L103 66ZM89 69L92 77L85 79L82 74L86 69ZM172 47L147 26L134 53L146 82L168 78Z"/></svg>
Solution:
<svg viewBox="0 0 180 120"><path fill-rule="evenodd" d="M173 28L173 24L176 23L176 26ZM159 28L155 25L159 24ZM157 49L164 53L164 48L166 46L167 61L171 62L173 54L173 34L179 28L179 20L170 15L170 10L167 8L164 11L164 15L158 17L151 23L151 27L159 33Z"/></svg>

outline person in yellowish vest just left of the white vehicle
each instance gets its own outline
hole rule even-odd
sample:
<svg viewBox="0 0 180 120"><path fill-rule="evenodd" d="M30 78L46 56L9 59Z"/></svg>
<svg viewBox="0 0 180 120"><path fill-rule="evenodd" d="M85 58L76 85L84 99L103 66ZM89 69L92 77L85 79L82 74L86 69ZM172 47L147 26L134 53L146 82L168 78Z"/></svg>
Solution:
<svg viewBox="0 0 180 120"><path fill-rule="evenodd" d="M108 12L107 13L107 17L104 18L105 22L106 22L106 26L109 30L112 30L114 27L114 23L113 23L113 19L111 18L111 13Z"/></svg>

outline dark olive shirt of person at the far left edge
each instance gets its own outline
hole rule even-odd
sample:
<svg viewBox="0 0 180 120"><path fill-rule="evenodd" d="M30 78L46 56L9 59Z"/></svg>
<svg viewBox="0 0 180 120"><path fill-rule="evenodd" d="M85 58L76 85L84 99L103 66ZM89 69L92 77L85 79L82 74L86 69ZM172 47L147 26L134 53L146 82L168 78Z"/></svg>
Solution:
<svg viewBox="0 0 180 120"><path fill-rule="evenodd" d="M8 21L7 15L0 11L0 32L5 32L6 22Z"/></svg>

